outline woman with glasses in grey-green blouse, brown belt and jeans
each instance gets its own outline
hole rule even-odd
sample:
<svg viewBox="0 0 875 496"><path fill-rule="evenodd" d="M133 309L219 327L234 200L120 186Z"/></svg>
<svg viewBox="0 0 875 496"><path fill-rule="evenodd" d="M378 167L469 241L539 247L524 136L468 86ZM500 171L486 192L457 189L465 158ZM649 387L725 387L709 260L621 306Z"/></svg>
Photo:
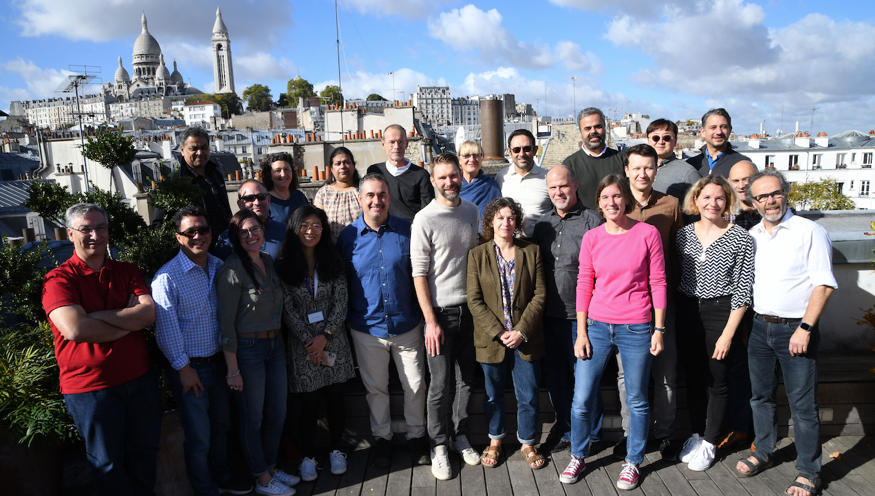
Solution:
<svg viewBox="0 0 875 496"><path fill-rule="evenodd" d="M288 387L279 335L283 286L270 255L260 251L264 227L258 215L247 208L235 213L228 238L234 253L216 276L216 296L243 458L255 476L255 493L288 496L299 479L275 469Z"/></svg>

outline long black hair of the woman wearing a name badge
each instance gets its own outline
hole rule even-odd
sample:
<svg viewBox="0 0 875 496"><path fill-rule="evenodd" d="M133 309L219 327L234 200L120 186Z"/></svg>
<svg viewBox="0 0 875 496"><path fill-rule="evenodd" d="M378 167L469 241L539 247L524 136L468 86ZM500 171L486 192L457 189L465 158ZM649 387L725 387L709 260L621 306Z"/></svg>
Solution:
<svg viewBox="0 0 875 496"><path fill-rule="evenodd" d="M307 275L307 261L304 259L304 248L301 248L301 238L298 236L304 219L315 215L322 224L322 237L316 245L316 269L325 280L346 275L346 262L340 251L334 246L331 239L331 225L328 224L328 216L325 210L312 205L304 205L297 208L291 214L289 223L285 227L285 241L279 248L276 256L276 272L283 282L296 285L300 284Z"/></svg>

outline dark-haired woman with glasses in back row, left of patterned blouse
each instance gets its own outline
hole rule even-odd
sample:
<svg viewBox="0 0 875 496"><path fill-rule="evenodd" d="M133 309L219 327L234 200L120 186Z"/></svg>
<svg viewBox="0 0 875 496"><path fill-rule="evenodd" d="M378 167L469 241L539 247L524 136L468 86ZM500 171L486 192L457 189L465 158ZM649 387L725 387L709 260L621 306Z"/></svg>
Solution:
<svg viewBox="0 0 875 496"><path fill-rule="evenodd" d="M285 224L298 206L310 201L297 189L295 159L287 151L269 153L258 165L262 171L262 185L270 193L270 219Z"/></svg>

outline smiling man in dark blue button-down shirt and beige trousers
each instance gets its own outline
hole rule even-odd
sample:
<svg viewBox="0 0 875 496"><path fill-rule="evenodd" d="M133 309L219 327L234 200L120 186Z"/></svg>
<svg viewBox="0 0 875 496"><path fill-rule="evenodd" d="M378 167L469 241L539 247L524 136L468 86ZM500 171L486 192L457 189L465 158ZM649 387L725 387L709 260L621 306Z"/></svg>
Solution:
<svg viewBox="0 0 875 496"><path fill-rule="evenodd" d="M422 320L410 268L410 221L388 214L391 195L379 173L361 179L361 216L340 232L337 246L349 264L349 313L361 381L367 389L374 465L392 460L388 361L404 388L407 445L420 465L430 464L425 438Z"/></svg>

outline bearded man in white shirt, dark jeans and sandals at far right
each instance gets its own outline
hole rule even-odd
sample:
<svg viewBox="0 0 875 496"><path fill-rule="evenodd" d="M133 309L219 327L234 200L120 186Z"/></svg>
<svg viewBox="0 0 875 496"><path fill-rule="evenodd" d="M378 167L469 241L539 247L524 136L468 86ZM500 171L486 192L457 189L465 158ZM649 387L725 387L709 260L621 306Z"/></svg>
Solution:
<svg viewBox="0 0 875 496"><path fill-rule="evenodd" d="M747 341L751 371L751 408L755 451L739 460L736 470L750 477L774 463L778 433L775 364L781 364L784 388L793 417L796 470L799 477L787 490L811 496L821 486L820 419L817 416L817 321L832 291L830 234L815 222L787 208L790 184L779 171L753 175L746 197L763 220L751 228L754 255L753 329Z"/></svg>

